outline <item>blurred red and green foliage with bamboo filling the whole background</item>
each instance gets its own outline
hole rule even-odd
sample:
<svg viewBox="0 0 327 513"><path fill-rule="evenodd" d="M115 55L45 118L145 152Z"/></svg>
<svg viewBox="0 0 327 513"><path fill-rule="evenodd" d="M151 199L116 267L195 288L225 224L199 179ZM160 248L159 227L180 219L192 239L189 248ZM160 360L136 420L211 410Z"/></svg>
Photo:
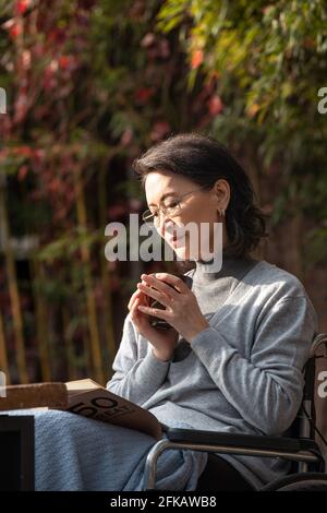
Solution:
<svg viewBox="0 0 327 513"><path fill-rule="evenodd" d="M105 383L140 274L105 227L145 207L133 158L202 131L244 164L327 331L323 0L0 0L0 367ZM162 264L164 265L164 264Z"/></svg>

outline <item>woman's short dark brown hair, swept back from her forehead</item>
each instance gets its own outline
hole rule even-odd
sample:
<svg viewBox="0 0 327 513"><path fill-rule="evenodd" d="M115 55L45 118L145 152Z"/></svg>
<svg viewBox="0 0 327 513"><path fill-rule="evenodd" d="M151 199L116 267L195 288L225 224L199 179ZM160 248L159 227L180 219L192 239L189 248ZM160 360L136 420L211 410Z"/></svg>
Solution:
<svg viewBox="0 0 327 513"><path fill-rule="evenodd" d="M220 178L230 186L226 210L229 246L225 254L247 256L267 237L267 214L256 203L250 178L231 153L218 141L199 133L172 135L147 150L132 165L145 187L149 172L167 170L210 190Z"/></svg>

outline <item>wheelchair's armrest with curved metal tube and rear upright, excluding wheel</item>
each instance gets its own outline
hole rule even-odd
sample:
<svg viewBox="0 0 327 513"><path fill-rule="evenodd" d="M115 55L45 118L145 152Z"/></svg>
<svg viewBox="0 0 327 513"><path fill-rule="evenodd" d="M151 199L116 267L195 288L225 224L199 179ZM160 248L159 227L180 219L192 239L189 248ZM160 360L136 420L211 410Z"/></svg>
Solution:
<svg viewBox="0 0 327 513"><path fill-rule="evenodd" d="M312 343L308 360L304 368L305 385L298 422L299 438L265 437L253 434L220 433L196 429L167 429L167 439L159 440L149 451L144 475L144 490L155 490L157 462L164 451L190 449L208 453L239 454L261 457L281 457L298 463L298 470L325 472L325 462L315 442L315 360L317 350L324 346L327 357L327 333L317 334ZM308 414L307 414L308 413ZM303 415L305 414L305 415ZM180 434L179 434L180 433ZM234 442L233 442L234 440ZM237 442L235 442L237 440ZM196 490L195 490L196 491ZM255 490L254 490L255 491Z"/></svg>

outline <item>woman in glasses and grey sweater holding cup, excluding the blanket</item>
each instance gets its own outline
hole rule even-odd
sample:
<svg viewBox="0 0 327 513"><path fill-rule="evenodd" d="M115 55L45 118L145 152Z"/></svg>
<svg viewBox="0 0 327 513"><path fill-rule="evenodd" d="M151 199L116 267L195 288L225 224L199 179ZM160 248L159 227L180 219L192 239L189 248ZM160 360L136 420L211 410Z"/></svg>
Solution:
<svg viewBox="0 0 327 513"><path fill-rule="evenodd" d="M215 223L222 223L222 248L214 248L214 255L222 249L222 267L213 272L201 254L186 273L190 288L171 274L141 276L108 389L169 426L179 419L196 429L282 434L301 404L317 319L295 276L251 256L266 232L247 176L225 147L193 133L152 147L134 169L149 206L144 219L181 260L192 260L190 237L172 234L206 223L213 248ZM148 314L171 329L153 327ZM289 468L280 458L219 457L217 489L229 479L259 487Z"/></svg>

